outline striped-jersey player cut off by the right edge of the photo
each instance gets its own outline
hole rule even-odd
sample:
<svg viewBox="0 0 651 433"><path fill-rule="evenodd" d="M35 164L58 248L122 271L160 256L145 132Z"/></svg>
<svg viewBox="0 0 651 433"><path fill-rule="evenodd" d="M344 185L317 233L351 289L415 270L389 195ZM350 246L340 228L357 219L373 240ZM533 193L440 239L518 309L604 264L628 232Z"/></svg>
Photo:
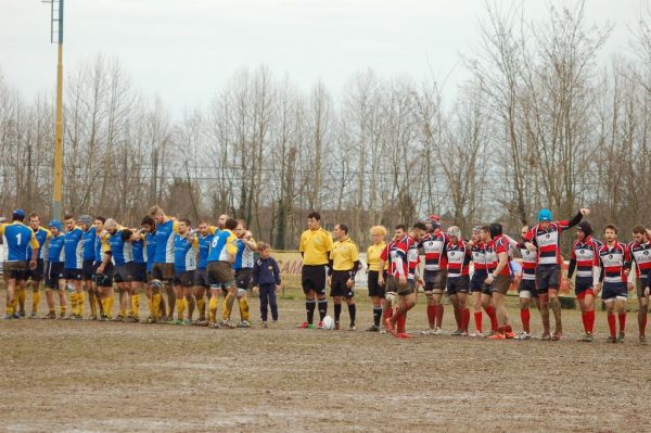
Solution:
<svg viewBox="0 0 651 433"><path fill-rule="evenodd" d="M633 242L628 244L630 259L635 263L636 292L638 298L639 342L647 343L647 314L649 309L649 286L651 285L651 242L644 226L633 228Z"/></svg>

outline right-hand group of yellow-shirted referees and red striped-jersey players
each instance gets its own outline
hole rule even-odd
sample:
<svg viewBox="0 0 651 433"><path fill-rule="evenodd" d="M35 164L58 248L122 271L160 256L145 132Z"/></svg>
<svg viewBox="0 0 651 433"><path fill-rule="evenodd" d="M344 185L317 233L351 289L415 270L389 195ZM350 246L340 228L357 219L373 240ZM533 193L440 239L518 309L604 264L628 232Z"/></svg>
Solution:
<svg viewBox="0 0 651 433"><path fill-rule="evenodd" d="M393 239L385 242L384 227L371 228L372 244L367 251L368 289L373 305L371 332L385 331L400 339L410 339L406 332L407 313L417 303L422 289L426 297L427 329L423 334L442 334L444 315L443 296L447 294L454 308L457 329L451 335L486 336L492 340L531 340L532 304L540 311L542 334L540 340L563 338L561 303L560 253L561 233L577 228L576 241L571 252L569 284L574 288L580 306L585 334L584 342L593 340L595 297L601 293L608 311L609 342L624 342L628 276L635 267L638 295L639 341L646 343L647 309L651 286L651 230L636 226L634 241L617 241L617 228L608 225L603 242L593 237L588 221L583 220L589 209L582 208L572 220L553 221L552 214L542 209L538 224L523 227L521 239L503 233L502 226L475 226L470 240L463 239L459 227L442 230L441 219L430 216L408 230L395 227ZM324 326L328 301L326 285L331 286L334 300L334 329L340 329L341 304L346 300L350 323L356 329L354 280L360 269L355 243L348 238L348 228L334 228L336 241L320 227L320 215L307 217L308 230L301 237L303 254L302 285L306 296L307 320L299 328L314 328L315 308L319 307L317 328ZM519 251L521 262L513 260ZM421 257L424 264L421 266ZM471 273L471 264L473 271ZM422 268L422 275L419 269ZM575 280L572 278L575 277ZM520 314L523 327L519 335L513 331L505 307L505 296L511 288L520 295ZM470 296L470 300L469 300ZM475 332L470 333L470 307L474 309ZM550 313L554 318L551 331ZM484 310L490 320L490 330L483 331ZM616 329L615 313L618 319Z"/></svg>

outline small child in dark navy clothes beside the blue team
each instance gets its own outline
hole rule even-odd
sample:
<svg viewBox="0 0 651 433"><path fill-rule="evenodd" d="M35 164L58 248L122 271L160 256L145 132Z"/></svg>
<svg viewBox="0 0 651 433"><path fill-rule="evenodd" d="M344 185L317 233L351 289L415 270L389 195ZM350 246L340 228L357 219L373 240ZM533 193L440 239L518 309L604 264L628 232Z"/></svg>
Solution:
<svg viewBox="0 0 651 433"><path fill-rule="evenodd" d="M271 319L278 321L278 304L276 294L280 291L280 269L278 263L271 257L271 247L269 244L258 243L260 256L253 265L253 286L259 286L260 290L260 318L263 328L267 328L267 306L271 307Z"/></svg>

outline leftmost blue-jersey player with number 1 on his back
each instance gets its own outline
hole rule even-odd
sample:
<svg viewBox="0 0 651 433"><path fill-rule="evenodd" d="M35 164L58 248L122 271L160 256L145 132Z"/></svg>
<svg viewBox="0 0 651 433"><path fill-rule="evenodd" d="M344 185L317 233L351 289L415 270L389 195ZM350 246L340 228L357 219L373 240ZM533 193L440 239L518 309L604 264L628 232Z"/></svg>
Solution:
<svg viewBox="0 0 651 433"><path fill-rule="evenodd" d="M8 250L4 266L4 271L7 272L5 319L14 318L14 308L17 305L15 301L16 281L25 279L27 268L36 268L39 245L34 230L25 226L23 224L24 220L25 211L16 209L13 212L11 224L0 225L0 235L3 237ZM28 253L29 249L31 250L31 255ZM17 311L16 317L18 317Z"/></svg>

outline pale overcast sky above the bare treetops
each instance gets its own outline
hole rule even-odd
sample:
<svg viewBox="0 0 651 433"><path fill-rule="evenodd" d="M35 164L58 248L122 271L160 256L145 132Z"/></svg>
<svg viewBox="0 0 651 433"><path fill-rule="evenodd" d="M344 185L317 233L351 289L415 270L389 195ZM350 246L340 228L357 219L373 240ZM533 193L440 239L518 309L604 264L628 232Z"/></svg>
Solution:
<svg viewBox="0 0 651 433"><path fill-rule="evenodd" d="M0 3L0 71L25 98L53 90L50 5ZM549 4L575 2L524 4L536 17ZM639 0L588 0L586 9L588 23L614 25L604 64L629 50ZM322 79L335 94L367 68L382 77L449 76L455 87L468 77L459 53L476 48L484 16L478 0L65 0L64 67L115 55L145 95L176 113L207 104L235 69L259 64L303 89Z"/></svg>

